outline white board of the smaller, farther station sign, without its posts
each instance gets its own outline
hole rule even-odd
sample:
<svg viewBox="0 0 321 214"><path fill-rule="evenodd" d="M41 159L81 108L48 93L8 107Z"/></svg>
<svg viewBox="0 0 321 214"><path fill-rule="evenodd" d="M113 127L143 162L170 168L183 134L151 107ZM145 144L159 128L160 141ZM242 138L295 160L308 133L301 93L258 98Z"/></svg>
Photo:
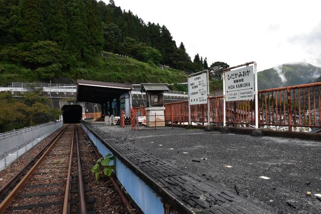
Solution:
<svg viewBox="0 0 321 214"><path fill-rule="evenodd" d="M206 73L201 73L197 76L188 78L189 99L190 105L206 104L207 103L207 76Z"/></svg>

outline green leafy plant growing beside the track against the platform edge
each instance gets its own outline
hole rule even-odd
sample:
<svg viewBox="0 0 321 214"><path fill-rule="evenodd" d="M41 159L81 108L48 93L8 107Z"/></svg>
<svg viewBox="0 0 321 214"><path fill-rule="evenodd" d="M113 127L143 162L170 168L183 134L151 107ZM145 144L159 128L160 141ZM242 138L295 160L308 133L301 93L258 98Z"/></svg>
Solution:
<svg viewBox="0 0 321 214"><path fill-rule="evenodd" d="M100 172L104 173L105 176L110 177L115 170L115 165L110 165L110 162L115 160L115 156L112 154L106 154L105 157L101 157L97 160L96 164L92 167L91 171L95 174L96 180L100 177Z"/></svg>

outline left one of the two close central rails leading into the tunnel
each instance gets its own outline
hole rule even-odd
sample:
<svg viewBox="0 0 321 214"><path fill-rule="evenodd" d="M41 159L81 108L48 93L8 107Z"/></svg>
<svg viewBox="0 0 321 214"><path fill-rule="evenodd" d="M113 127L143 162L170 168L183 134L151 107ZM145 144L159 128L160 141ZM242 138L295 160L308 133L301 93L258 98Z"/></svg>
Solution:
<svg viewBox="0 0 321 214"><path fill-rule="evenodd" d="M63 214L69 214L70 212L70 192L71 192L71 170L72 170L72 163L73 163L73 151L74 151L74 138L75 138L75 129L74 126L73 131L73 138L71 140L71 149L70 149L70 157L69 157L69 165L68 165L68 175L66 181L66 188L65 188L65 198L64 198L64 205L63 205Z"/></svg>

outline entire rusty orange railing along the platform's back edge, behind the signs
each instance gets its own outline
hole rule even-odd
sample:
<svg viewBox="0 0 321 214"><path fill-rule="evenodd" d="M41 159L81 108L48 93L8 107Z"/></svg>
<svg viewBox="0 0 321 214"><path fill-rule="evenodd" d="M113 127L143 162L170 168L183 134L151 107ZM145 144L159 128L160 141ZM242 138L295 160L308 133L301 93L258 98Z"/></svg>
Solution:
<svg viewBox="0 0 321 214"><path fill-rule="evenodd" d="M258 91L259 127L287 126L321 128L321 82ZM208 97L210 123L223 125L223 96ZM255 102L226 102L226 123L255 124ZM188 101L164 104L165 121L188 122ZM146 116L145 107L133 108ZM191 106L191 121L208 123L207 104Z"/></svg>

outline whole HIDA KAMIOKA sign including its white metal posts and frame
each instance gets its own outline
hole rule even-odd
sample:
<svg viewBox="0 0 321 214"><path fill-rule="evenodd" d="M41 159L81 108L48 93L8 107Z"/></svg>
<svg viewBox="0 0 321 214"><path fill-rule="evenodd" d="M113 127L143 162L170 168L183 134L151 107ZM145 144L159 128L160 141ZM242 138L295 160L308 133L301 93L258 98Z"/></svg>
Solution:
<svg viewBox="0 0 321 214"><path fill-rule="evenodd" d="M253 67L249 65L254 64ZM246 66L246 67L244 67ZM243 68L240 68L243 67ZM240 69L237 69L240 68ZM232 69L236 69L233 70ZM253 79L254 75L254 79ZM258 123L258 92L256 62L249 62L223 70L223 126L226 126L226 101L255 100L255 128ZM236 111L236 109L234 109Z"/></svg>

